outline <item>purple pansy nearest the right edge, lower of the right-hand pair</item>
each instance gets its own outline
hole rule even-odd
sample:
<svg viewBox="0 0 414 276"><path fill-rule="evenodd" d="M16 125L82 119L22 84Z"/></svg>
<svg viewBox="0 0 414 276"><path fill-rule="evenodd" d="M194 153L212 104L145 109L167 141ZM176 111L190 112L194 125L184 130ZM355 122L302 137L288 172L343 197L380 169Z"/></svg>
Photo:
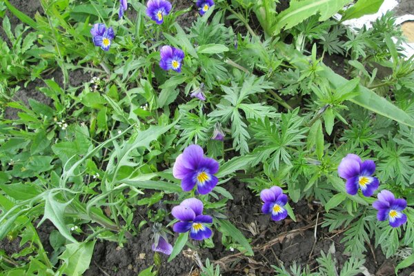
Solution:
<svg viewBox="0 0 414 276"><path fill-rule="evenodd" d="M384 221L388 219L393 227L400 227L407 221L407 216L401 211L407 206L405 199L395 199L389 190L382 190L377 195L378 200L374 201L373 208L378 210L377 219Z"/></svg>

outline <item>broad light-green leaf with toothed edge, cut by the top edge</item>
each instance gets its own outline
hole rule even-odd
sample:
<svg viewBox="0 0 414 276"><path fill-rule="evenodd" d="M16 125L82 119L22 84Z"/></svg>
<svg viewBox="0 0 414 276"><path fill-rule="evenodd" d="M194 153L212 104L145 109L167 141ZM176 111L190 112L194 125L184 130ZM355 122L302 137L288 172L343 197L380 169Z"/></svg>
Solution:
<svg viewBox="0 0 414 276"><path fill-rule="evenodd" d="M292 0L289 8L277 15L273 32L278 34L282 28L290 29L317 13L319 21L325 21L350 2L351 0Z"/></svg>

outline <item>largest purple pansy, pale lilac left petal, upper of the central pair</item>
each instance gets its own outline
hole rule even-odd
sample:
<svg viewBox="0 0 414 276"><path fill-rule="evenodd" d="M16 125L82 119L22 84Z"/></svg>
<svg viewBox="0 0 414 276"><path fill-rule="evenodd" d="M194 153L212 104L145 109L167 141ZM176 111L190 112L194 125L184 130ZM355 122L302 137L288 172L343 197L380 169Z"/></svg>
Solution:
<svg viewBox="0 0 414 276"><path fill-rule="evenodd" d="M214 174L219 170L219 162L204 157L201 146L190 145L175 159L172 175L181 179L181 188L188 192L197 186L201 195L210 193L219 179Z"/></svg>

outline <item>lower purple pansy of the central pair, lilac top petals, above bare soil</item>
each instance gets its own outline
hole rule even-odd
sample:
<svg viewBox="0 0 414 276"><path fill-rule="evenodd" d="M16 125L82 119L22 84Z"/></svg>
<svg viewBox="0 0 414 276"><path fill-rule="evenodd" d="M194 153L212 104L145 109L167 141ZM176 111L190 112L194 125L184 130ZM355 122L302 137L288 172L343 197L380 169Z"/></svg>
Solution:
<svg viewBox="0 0 414 276"><path fill-rule="evenodd" d="M180 221L174 224L173 229L177 233L190 231L192 239L208 239L211 236L211 230L205 224L213 223L213 217L203 215L203 203L196 198L185 199L172 208L172 215Z"/></svg>

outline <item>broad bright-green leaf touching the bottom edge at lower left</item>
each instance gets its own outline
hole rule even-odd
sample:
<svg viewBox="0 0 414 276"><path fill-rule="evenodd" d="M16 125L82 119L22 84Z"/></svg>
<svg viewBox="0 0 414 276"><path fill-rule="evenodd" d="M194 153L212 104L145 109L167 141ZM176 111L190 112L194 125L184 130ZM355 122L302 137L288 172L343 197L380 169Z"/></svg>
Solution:
<svg viewBox="0 0 414 276"><path fill-rule="evenodd" d="M83 275L89 268L95 242L68 244L66 250L59 256L59 259L63 260L59 272L71 276Z"/></svg>

